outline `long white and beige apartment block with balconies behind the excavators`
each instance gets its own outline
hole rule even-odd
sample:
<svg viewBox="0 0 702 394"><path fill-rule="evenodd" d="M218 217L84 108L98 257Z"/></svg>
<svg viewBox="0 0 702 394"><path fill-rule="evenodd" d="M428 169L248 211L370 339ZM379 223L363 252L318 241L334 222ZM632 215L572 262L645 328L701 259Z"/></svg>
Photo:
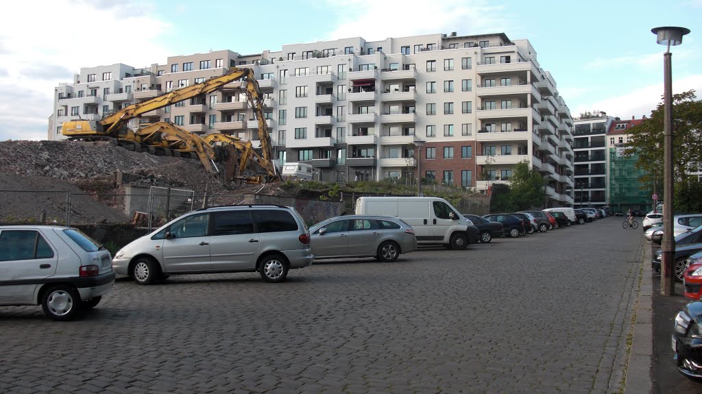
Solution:
<svg viewBox="0 0 702 394"><path fill-rule="evenodd" d="M72 84L56 89L50 129L59 134L49 138L61 138L60 125L69 118L98 118L234 65L253 67L260 77L277 160L309 162L317 179L421 177L486 190L509 182L515 165L527 161L548 182L548 205L574 202L569 109L529 41L505 34L355 37L256 55L221 50L168 57L150 69L81 69ZM89 102L74 98L88 90L94 93ZM140 121L258 140L240 83L148 115Z"/></svg>

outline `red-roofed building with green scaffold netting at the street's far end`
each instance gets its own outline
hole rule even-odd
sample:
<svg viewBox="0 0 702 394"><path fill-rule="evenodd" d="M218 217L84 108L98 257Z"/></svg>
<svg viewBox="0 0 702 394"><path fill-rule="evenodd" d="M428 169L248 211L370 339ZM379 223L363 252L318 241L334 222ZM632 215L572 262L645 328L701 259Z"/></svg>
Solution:
<svg viewBox="0 0 702 394"><path fill-rule="evenodd" d="M607 201L612 209L621 212L626 212L630 208L648 212L653 203L651 201L652 188L642 188L639 180L644 175L644 170L636 168L638 155L624 155L624 149L630 141L631 128L641 124L643 120L631 118L629 121L621 121L617 118L611 122L607 130L607 152L609 154ZM662 168L658 177L660 177L659 179L663 178ZM663 199L662 194L661 189L661 199Z"/></svg>

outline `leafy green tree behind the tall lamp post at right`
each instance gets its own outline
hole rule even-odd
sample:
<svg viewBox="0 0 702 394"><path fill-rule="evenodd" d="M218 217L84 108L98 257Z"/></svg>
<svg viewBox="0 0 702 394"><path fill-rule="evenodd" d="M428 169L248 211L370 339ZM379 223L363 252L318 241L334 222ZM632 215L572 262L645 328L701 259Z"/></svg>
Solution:
<svg viewBox="0 0 702 394"><path fill-rule="evenodd" d="M694 90L673 95L673 168L675 171L675 212L701 212L700 185L691 166L702 163L702 101L695 100ZM636 167L645 171L640 178L644 187L653 184L654 174L663 177L665 114L663 102L651 111L651 117L630 129L633 138L625 154L638 154Z"/></svg>

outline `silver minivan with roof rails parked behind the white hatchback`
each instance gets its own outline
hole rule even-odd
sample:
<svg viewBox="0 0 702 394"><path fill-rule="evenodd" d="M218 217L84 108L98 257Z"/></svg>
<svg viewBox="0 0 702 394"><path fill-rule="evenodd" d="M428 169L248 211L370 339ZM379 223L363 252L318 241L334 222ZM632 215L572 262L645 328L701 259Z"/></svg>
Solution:
<svg viewBox="0 0 702 394"><path fill-rule="evenodd" d="M123 247L113 264L140 285L174 274L254 271L282 282L312 258L310 233L293 208L229 205L174 219Z"/></svg>

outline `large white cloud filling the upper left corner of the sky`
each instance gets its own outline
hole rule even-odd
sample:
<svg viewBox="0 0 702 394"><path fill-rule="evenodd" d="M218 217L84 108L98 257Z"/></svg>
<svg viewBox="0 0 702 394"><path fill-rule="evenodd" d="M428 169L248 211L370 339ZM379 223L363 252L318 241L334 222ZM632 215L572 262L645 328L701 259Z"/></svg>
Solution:
<svg viewBox="0 0 702 394"><path fill-rule="evenodd" d="M8 1L3 14L0 64L5 72L0 73L0 91L10 97L0 102L0 140L22 138L13 131L19 130L17 123L9 123L15 118L38 125L31 131L25 128L27 139L46 139L54 88L72 82L72 74L81 67L145 67L169 54L159 36L170 26L154 18L144 1Z"/></svg>

